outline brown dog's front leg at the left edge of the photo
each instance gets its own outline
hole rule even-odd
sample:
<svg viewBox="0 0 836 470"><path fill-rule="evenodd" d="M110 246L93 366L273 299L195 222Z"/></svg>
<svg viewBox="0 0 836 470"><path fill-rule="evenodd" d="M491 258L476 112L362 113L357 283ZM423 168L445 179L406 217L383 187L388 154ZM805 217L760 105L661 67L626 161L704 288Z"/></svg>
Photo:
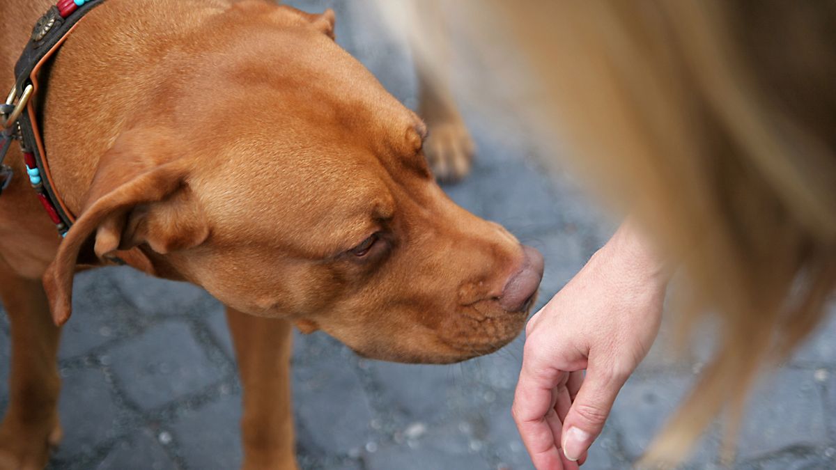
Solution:
<svg viewBox="0 0 836 470"><path fill-rule="evenodd" d="M0 424L0 470L41 470L58 444L59 327L40 279L14 274L0 258L0 299L12 325L9 403Z"/></svg>

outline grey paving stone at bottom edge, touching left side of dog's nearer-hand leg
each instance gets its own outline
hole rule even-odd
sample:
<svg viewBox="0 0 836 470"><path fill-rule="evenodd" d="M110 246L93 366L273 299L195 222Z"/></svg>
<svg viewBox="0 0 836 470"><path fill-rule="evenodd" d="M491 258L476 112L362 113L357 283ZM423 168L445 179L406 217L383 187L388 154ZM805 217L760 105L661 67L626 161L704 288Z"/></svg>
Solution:
<svg viewBox="0 0 836 470"><path fill-rule="evenodd" d="M189 468L226 470L241 465L241 413L241 396L227 395L187 412L171 425Z"/></svg>

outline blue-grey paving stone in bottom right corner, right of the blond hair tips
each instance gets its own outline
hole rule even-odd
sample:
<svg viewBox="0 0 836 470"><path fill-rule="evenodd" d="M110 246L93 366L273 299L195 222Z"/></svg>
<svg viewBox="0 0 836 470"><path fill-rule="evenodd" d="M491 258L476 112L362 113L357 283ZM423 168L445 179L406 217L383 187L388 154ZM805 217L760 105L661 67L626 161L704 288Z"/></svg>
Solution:
<svg viewBox="0 0 836 470"><path fill-rule="evenodd" d="M789 447L828 444L825 408L810 370L784 369L767 376L744 416L739 458Z"/></svg>

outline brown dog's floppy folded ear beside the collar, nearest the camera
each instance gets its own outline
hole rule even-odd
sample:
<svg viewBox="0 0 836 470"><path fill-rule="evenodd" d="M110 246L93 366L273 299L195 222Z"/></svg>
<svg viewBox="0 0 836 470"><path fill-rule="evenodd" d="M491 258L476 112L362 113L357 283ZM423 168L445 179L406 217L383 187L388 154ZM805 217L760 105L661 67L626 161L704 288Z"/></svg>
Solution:
<svg viewBox="0 0 836 470"><path fill-rule="evenodd" d="M145 254L131 248L145 243L165 254L206 239L206 219L186 182L188 162L166 155L174 148L153 130L131 130L102 156L84 207L43 274L55 324L69 319L77 263L120 256L153 273Z"/></svg>

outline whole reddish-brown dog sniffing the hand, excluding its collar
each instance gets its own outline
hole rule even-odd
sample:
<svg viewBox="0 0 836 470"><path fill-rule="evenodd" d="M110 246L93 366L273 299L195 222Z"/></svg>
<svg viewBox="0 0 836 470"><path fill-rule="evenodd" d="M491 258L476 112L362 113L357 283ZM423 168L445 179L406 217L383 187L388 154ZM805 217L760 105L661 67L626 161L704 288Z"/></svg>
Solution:
<svg viewBox="0 0 836 470"><path fill-rule="evenodd" d="M3 76L48 6L0 3ZM0 197L13 340L0 468L42 468L59 441L56 324L79 266L119 257L227 305L247 468L295 467L292 323L410 362L517 335L542 258L447 199L421 120L333 28L331 12L259 0L110 0L69 36L40 99L54 184L78 220L60 241L17 148Z"/></svg>

